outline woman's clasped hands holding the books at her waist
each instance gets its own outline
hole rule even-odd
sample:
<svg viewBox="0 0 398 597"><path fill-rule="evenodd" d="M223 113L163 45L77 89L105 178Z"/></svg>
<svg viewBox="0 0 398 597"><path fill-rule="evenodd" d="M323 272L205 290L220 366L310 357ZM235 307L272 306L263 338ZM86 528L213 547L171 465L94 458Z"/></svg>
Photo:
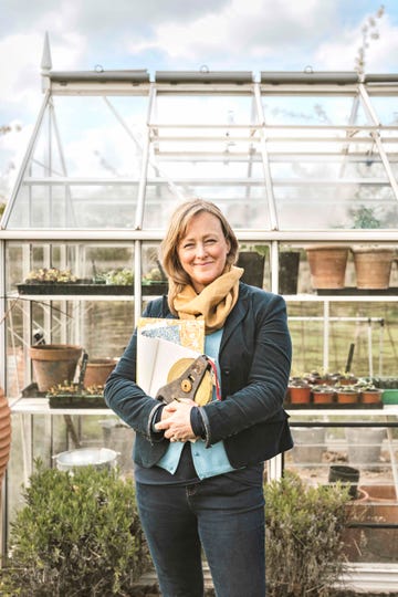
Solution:
<svg viewBox="0 0 398 597"><path fill-rule="evenodd" d="M156 423L156 431L165 431L170 441L188 441L196 439L190 425L191 408L197 408L193 400L174 400L161 412L161 420Z"/></svg>

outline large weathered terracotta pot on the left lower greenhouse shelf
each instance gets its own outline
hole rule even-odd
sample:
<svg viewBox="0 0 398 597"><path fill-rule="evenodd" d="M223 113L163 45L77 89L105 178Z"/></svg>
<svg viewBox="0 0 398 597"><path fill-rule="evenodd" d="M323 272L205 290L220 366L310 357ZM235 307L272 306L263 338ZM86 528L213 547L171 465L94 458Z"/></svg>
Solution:
<svg viewBox="0 0 398 597"><path fill-rule="evenodd" d="M42 344L29 350L39 391L48 391L59 384L73 381L81 346L70 344Z"/></svg>

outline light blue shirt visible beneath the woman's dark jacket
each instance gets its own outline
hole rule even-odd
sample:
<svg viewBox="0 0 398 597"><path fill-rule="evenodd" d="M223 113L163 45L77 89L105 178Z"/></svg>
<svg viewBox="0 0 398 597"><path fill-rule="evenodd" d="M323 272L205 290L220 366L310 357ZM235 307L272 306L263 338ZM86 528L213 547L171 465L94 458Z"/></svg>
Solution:
<svg viewBox="0 0 398 597"><path fill-rule="evenodd" d="M222 337L222 329L218 329L213 334L206 336L205 339L205 353L216 363L217 376L221 383L220 376L220 366L218 362L218 355L220 350L220 343ZM213 387L212 399L216 400L216 387ZM184 448L184 442L176 441L170 443L166 453L157 462L158 467L161 467L166 471L169 471L174 474L177 470L181 452ZM231 467L227 452L224 449L223 441L219 441L206 448L206 442L202 439L198 439L196 442L190 443L191 454L193 467L199 479L207 479L209 476L214 476L217 474L222 474L226 472L234 471L235 469Z"/></svg>

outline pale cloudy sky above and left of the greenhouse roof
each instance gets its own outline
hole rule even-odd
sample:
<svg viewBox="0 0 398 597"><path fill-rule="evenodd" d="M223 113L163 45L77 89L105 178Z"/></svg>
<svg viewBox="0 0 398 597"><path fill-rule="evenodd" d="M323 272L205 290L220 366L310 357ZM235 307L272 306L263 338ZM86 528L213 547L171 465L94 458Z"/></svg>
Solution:
<svg viewBox="0 0 398 597"><path fill-rule="evenodd" d="M378 14L381 4L383 15ZM49 34L54 71L398 72L398 1L0 0L0 201L7 200L42 102Z"/></svg>

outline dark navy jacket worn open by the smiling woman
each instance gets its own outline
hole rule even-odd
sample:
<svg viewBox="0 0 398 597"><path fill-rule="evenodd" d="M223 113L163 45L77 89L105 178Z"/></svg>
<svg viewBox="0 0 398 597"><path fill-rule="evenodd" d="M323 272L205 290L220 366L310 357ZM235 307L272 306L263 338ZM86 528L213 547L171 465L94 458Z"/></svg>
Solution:
<svg viewBox="0 0 398 597"><path fill-rule="evenodd" d="M146 317L172 317L166 297L150 302ZM222 399L205 407L207 446L224 440L234 468L263 462L292 448L286 391L292 345L284 300L240 283L239 298L228 316L219 352ZM136 332L105 386L106 404L137 436L134 459L154 465L169 441L154 433L150 420L158 401L136 384Z"/></svg>

